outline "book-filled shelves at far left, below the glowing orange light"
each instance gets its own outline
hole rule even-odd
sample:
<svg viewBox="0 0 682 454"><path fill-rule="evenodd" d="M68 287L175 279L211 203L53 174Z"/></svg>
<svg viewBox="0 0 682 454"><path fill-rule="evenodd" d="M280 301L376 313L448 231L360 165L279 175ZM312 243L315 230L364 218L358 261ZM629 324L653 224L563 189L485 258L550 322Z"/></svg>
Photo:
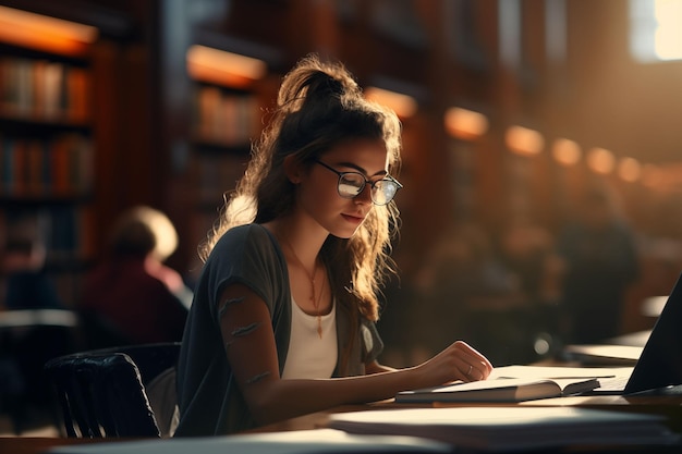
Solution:
<svg viewBox="0 0 682 454"><path fill-rule="evenodd" d="M92 84L86 48L0 37L2 234L45 247L46 270L66 306L95 248Z"/></svg>

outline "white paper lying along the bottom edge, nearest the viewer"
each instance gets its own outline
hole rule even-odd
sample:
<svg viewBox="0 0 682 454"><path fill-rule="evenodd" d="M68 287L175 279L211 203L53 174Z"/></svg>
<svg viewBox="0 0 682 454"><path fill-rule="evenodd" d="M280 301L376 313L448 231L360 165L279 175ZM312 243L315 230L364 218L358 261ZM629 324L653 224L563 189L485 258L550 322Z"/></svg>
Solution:
<svg viewBox="0 0 682 454"><path fill-rule="evenodd" d="M358 435L334 429L224 437L86 443L52 447L50 454L321 454L451 453L452 446L406 435Z"/></svg>

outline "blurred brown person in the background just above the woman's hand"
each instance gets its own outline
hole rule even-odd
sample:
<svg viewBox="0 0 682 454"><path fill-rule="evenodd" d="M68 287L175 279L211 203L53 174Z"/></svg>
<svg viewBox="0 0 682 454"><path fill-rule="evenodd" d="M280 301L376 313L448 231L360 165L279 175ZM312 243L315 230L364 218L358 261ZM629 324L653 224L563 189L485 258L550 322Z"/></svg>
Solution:
<svg viewBox="0 0 682 454"><path fill-rule="evenodd" d="M443 228L416 274L419 303L413 318L415 339L429 352L442 348L451 332L465 333L496 360L499 327L496 312L516 305L517 284L497 257L488 232L473 220L453 220ZM496 363L499 363L496 360Z"/></svg>

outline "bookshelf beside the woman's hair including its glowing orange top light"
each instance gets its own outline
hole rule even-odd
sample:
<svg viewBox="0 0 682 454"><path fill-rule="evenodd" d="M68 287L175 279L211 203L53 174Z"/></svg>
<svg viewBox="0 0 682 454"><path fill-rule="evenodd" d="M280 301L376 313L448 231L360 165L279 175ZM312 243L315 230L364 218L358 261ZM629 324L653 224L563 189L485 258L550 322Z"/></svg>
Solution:
<svg viewBox="0 0 682 454"><path fill-rule="evenodd" d="M202 60L197 47L208 59ZM249 73L238 72L249 66ZM252 144L261 132L266 99L275 94L267 88L265 62L218 48L191 47L187 73L192 85L187 187L196 213L190 244L196 246L244 174Z"/></svg>

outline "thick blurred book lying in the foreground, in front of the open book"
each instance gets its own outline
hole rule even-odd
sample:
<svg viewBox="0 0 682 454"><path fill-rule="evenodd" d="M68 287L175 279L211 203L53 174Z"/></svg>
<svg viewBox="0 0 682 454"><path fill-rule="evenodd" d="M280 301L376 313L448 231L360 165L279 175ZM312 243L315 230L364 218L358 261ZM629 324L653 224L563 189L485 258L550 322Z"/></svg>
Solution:
<svg viewBox="0 0 682 454"><path fill-rule="evenodd" d="M680 442L663 416L569 406L391 408L329 416L355 434L423 437L480 451Z"/></svg>

